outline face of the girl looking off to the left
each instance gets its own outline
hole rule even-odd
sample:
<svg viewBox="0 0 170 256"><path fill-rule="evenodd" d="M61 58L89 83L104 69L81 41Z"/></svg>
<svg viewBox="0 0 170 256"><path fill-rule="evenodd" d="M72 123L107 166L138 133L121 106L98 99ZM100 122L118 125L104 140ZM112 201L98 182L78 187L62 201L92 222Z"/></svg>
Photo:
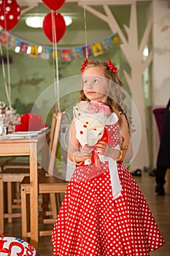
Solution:
<svg viewBox="0 0 170 256"><path fill-rule="evenodd" d="M107 102L108 83L101 67L89 67L82 75L85 96L91 101Z"/></svg>

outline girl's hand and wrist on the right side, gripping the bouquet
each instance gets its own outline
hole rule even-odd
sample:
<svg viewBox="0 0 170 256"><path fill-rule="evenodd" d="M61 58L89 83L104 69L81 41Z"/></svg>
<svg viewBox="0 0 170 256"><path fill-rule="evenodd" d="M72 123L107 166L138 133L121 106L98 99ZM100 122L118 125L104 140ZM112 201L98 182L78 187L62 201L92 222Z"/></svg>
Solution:
<svg viewBox="0 0 170 256"><path fill-rule="evenodd" d="M100 141L96 144L95 150L98 151L98 154L104 155L105 157L111 157L117 159L119 151L111 148L106 141Z"/></svg>

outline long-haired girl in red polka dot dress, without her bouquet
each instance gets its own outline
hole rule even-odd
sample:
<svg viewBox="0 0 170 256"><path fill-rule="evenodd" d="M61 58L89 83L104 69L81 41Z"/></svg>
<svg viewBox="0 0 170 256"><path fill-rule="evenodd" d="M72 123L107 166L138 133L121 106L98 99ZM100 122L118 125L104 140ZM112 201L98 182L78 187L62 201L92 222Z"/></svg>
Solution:
<svg viewBox="0 0 170 256"><path fill-rule="evenodd" d="M131 157L131 122L122 104L117 68L109 61L82 64L80 100L102 102L112 111L107 118L106 140L96 144L101 172L87 178L96 165L85 165L93 151L81 147L74 121L69 159L77 164L56 219L51 241L58 256L147 256L165 244L142 192L123 161ZM113 83L113 82L115 83ZM117 105L117 100L121 104ZM121 107L120 107L121 105ZM119 146L120 149L116 149ZM127 154L128 151L128 154ZM112 165L110 165L110 163ZM115 178L111 178L115 173ZM117 173L117 176L116 176ZM77 176L85 176L78 180ZM90 177L90 176L89 176ZM118 179L117 179L118 177ZM118 188L118 193L113 191Z"/></svg>

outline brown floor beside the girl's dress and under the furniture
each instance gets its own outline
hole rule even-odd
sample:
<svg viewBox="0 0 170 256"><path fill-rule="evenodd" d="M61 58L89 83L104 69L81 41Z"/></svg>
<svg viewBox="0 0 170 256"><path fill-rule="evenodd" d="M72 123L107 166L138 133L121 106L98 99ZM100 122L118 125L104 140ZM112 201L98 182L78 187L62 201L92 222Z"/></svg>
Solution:
<svg viewBox="0 0 170 256"><path fill-rule="evenodd" d="M151 252L151 256L169 256L170 255L170 187L165 185L166 196L160 197L155 195L155 177L149 176L143 172L141 177L134 177L139 187L142 189L147 202L155 216L155 220L160 227L161 233L166 240L166 245ZM51 225L51 229L53 225ZM21 222L15 219L12 223L5 222L4 236L15 236L21 238ZM52 256L53 246L50 243L50 236L39 238L39 255ZM116 255L115 255L116 256ZM118 255L117 255L118 256ZM141 255L142 256L142 255Z"/></svg>

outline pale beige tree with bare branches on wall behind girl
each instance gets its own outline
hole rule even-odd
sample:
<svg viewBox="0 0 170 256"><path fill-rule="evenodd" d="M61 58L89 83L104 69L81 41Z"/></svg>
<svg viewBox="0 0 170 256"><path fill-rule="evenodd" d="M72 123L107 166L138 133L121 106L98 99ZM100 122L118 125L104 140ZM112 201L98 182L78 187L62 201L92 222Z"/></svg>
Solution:
<svg viewBox="0 0 170 256"><path fill-rule="evenodd" d="M82 4L79 4L79 5L83 7ZM118 4L116 3L111 5L118 5ZM139 146L138 154L136 154L136 158L134 159L134 162L132 163L131 167L142 168L144 165L145 166L149 165L149 156L148 156L148 148L147 148L147 127L146 127L146 116L144 112L144 91L143 91L143 84L142 84L142 75L143 75L144 69L146 69L150 65L153 59L153 53L151 51L150 54L147 56L147 59L145 59L145 61L143 61L142 56L143 56L144 48L147 45L147 42L150 36L150 31L152 29L152 15L150 15L150 18L147 21L147 26L144 30L144 34L142 35L141 42L139 42L138 26L137 26L137 11L136 11L135 1L131 4L131 15L130 15L129 27L124 25L125 31L127 33L127 39L125 38L121 27L117 23L115 16L112 14L112 11L110 10L109 5L104 4L101 6L104 8L105 15L101 12L98 12L98 10L96 10L95 8L89 5L86 5L86 10L88 12L91 12L93 15L96 15L96 17L100 18L101 20L104 20L105 22L107 22L111 31L112 32L117 31L117 33L120 36L120 39L123 42L123 44L120 45L120 49L123 51L125 59L128 62L129 66L131 67L131 75L128 75L128 73L125 70L123 70L123 73L128 82L128 86L131 89L132 99L139 112L139 117L140 117L141 126L142 126L141 143Z"/></svg>

